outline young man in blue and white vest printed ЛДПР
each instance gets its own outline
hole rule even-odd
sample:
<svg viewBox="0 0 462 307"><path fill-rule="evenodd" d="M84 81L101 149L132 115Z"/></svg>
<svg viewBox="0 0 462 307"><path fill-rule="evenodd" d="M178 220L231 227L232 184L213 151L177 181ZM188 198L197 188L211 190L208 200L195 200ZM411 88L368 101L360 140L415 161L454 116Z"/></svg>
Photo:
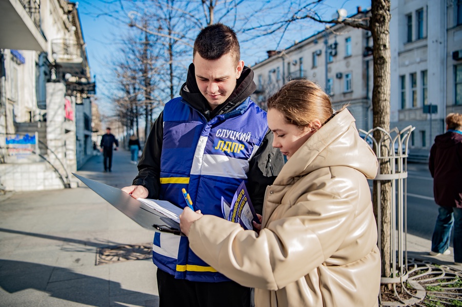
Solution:
<svg viewBox="0 0 462 307"><path fill-rule="evenodd" d="M194 42L193 63L180 96L166 103L149 134L138 176L124 190L222 216L220 200L231 201L242 181L262 212L266 187L284 160L271 146L266 112L250 100L253 72L240 60L229 27L204 28ZM155 233L160 306L249 306L250 289L216 272L190 249L186 237Z"/></svg>

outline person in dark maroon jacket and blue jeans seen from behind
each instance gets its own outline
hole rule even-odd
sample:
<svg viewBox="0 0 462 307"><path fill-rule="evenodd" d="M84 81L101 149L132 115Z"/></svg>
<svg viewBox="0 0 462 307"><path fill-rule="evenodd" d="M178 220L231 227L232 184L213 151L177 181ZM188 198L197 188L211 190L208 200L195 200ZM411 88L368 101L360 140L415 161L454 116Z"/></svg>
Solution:
<svg viewBox="0 0 462 307"><path fill-rule="evenodd" d="M454 262L462 265L462 114L448 114L446 129L430 150L433 194L439 205L430 255L451 253L449 240L454 227Z"/></svg>

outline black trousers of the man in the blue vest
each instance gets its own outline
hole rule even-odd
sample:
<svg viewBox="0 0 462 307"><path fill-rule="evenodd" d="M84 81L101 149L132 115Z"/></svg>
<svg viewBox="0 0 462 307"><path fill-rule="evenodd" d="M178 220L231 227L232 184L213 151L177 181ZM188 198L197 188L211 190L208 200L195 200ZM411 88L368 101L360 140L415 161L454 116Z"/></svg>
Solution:
<svg viewBox="0 0 462 307"><path fill-rule="evenodd" d="M200 282L175 279L157 268L159 307L249 307L250 288L234 281Z"/></svg>

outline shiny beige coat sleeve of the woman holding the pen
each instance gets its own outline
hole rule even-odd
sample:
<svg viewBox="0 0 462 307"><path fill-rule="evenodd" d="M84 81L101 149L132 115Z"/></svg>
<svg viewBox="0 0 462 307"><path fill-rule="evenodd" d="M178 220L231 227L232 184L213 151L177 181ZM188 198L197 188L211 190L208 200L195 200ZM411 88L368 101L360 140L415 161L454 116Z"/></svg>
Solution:
<svg viewBox="0 0 462 307"><path fill-rule="evenodd" d="M355 211L352 199L323 190L315 193L316 199L322 200L306 201L306 194L300 196L283 217L259 234L204 215L191 226L190 247L218 272L243 286L282 289L323 265L349 233Z"/></svg>

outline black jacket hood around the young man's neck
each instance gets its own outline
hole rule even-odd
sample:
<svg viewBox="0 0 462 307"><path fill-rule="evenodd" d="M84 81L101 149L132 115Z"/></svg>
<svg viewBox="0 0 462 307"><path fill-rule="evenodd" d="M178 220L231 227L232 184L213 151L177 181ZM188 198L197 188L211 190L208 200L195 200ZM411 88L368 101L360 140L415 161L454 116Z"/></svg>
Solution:
<svg viewBox="0 0 462 307"><path fill-rule="evenodd" d="M253 81L253 71L244 66L239 79L237 79L236 89L231 93L228 99L217 106L213 111L210 109L207 99L200 93L197 86L194 64L191 63L188 69L186 82L182 85L179 95L186 100L192 107L204 114L208 119L223 113L232 111L236 106L246 100L253 92L256 85Z"/></svg>

